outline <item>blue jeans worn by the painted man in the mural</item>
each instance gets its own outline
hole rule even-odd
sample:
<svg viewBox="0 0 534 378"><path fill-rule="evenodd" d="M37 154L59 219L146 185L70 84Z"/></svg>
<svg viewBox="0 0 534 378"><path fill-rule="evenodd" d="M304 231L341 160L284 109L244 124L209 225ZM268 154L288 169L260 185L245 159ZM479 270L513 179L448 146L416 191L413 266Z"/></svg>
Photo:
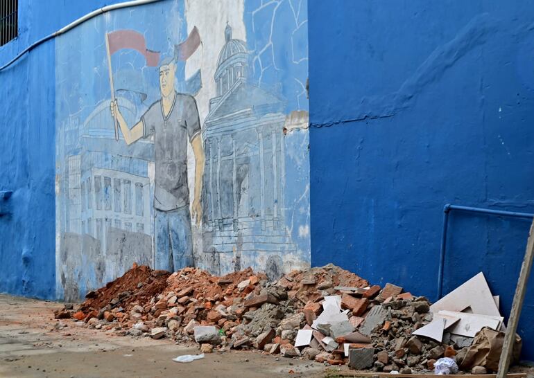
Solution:
<svg viewBox="0 0 534 378"><path fill-rule="evenodd" d="M193 236L189 206L155 209L155 269L178 271L193 267Z"/></svg>

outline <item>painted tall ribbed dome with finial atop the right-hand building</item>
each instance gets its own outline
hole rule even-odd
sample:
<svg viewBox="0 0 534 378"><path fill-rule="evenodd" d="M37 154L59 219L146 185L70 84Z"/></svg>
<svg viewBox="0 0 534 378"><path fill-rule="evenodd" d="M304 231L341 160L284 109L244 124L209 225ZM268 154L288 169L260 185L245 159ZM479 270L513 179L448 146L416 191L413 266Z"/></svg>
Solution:
<svg viewBox="0 0 534 378"><path fill-rule="evenodd" d="M223 96L240 78L245 76L248 63L246 43L241 39L232 39L232 28L226 25L225 45L218 55L215 71L216 93Z"/></svg>

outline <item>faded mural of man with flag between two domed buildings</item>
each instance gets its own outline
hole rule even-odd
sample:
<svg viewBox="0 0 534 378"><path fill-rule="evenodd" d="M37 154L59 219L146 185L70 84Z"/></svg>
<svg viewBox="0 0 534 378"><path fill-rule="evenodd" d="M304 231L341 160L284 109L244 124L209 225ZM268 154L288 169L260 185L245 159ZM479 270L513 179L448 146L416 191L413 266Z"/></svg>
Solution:
<svg viewBox="0 0 534 378"><path fill-rule="evenodd" d="M58 296L133 262L309 265L305 0L161 1L55 49Z"/></svg>

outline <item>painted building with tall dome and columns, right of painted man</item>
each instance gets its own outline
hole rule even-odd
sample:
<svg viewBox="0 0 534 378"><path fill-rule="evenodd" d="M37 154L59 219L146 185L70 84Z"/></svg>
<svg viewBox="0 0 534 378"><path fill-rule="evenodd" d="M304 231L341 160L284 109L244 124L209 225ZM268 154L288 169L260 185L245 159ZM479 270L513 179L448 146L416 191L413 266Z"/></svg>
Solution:
<svg viewBox="0 0 534 378"><path fill-rule="evenodd" d="M284 219L286 116L282 100L248 82L248 60L246 42L227 25L203 126L203 250L213 273L276 275L296 249Z"/></svg>

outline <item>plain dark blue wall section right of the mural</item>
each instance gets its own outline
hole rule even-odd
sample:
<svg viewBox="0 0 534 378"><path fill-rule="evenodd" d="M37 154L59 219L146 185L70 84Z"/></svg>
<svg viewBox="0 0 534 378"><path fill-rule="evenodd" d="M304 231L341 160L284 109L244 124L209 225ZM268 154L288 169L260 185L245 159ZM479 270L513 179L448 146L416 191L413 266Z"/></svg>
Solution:
<svg viewBox="0 0 534 378"><path fill-rule="evenodd" d="M533 19L529 1L309 2L313 265L435 300L445 204L534 213ZM507 316L529 226L452 213L444 294L483 271Z"/></svg>

